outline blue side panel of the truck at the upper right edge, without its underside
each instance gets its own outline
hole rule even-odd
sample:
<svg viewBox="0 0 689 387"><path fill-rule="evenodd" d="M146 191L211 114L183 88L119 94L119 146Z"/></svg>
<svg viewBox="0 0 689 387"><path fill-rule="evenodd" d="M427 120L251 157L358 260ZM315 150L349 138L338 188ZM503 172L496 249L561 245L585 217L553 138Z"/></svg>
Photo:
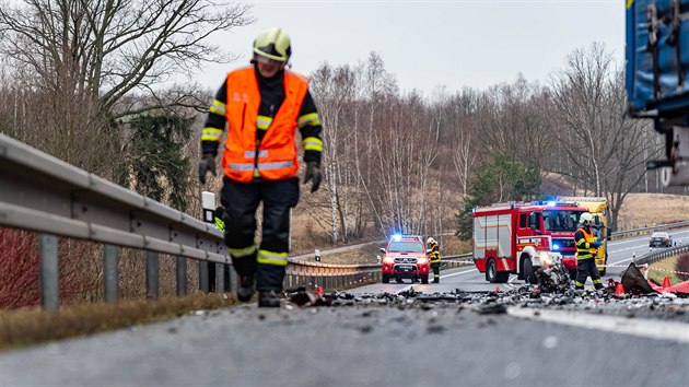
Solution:
<svg viewBox="0 0 689 387"><path fill-rule="evenodd" d="M689 0L624 2L630 114L689 115Z"/></svg>

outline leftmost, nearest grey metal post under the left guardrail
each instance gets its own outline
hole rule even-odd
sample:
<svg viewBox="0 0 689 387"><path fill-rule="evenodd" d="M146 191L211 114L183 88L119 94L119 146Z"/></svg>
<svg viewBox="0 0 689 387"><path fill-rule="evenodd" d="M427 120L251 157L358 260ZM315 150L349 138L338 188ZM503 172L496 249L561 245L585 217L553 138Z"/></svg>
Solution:
<svg viewBox="0 0 689 387"><path fill-rule="evenodd" d="M38 254L40 255L40 303L46 310L58 312L60 307L58 237L38 234Z"/></svg>

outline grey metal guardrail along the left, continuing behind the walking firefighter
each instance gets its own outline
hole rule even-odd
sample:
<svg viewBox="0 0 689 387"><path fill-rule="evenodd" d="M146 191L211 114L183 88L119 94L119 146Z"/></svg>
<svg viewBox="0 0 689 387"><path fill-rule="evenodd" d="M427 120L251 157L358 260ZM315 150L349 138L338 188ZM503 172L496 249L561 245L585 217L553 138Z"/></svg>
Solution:
<svg viewBox="0 0 689 387"><path fill-rule="evenodd" d="M60 304L58 237L104 245L104 295L108 302L118 297L118 259L122 246L147 251L147 295L151 298L159 295L159 254L176 257L179 296L187 293L187 258L199 262L199 289L206 292L208 263L231 262L224 235L212 223L132 192L2 133L0 226L39 233L40 296L48 310L57 310ZM222 268L218 267L215 273L215 289L222 289ZM379 275L377 266L313 265L292 259L285 285L311 281L323 282L327 288L344 286L375 281ZM236 286L234 279L231 285Z"/></svg>

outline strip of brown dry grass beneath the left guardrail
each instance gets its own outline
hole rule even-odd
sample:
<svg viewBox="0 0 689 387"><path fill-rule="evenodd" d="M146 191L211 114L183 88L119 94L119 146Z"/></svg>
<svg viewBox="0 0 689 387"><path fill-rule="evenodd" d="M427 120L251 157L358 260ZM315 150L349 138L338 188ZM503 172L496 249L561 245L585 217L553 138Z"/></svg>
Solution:
<svg viewBox="0 0 689 387"><path fill-rule="evenodd" d="M234 294L197 293L157 301L124 300L117 303L61 306L58 313L40 307L0 312L0 351L66 338L85 336L132 325L161 321L190 310L237 304Z"/></svg>

